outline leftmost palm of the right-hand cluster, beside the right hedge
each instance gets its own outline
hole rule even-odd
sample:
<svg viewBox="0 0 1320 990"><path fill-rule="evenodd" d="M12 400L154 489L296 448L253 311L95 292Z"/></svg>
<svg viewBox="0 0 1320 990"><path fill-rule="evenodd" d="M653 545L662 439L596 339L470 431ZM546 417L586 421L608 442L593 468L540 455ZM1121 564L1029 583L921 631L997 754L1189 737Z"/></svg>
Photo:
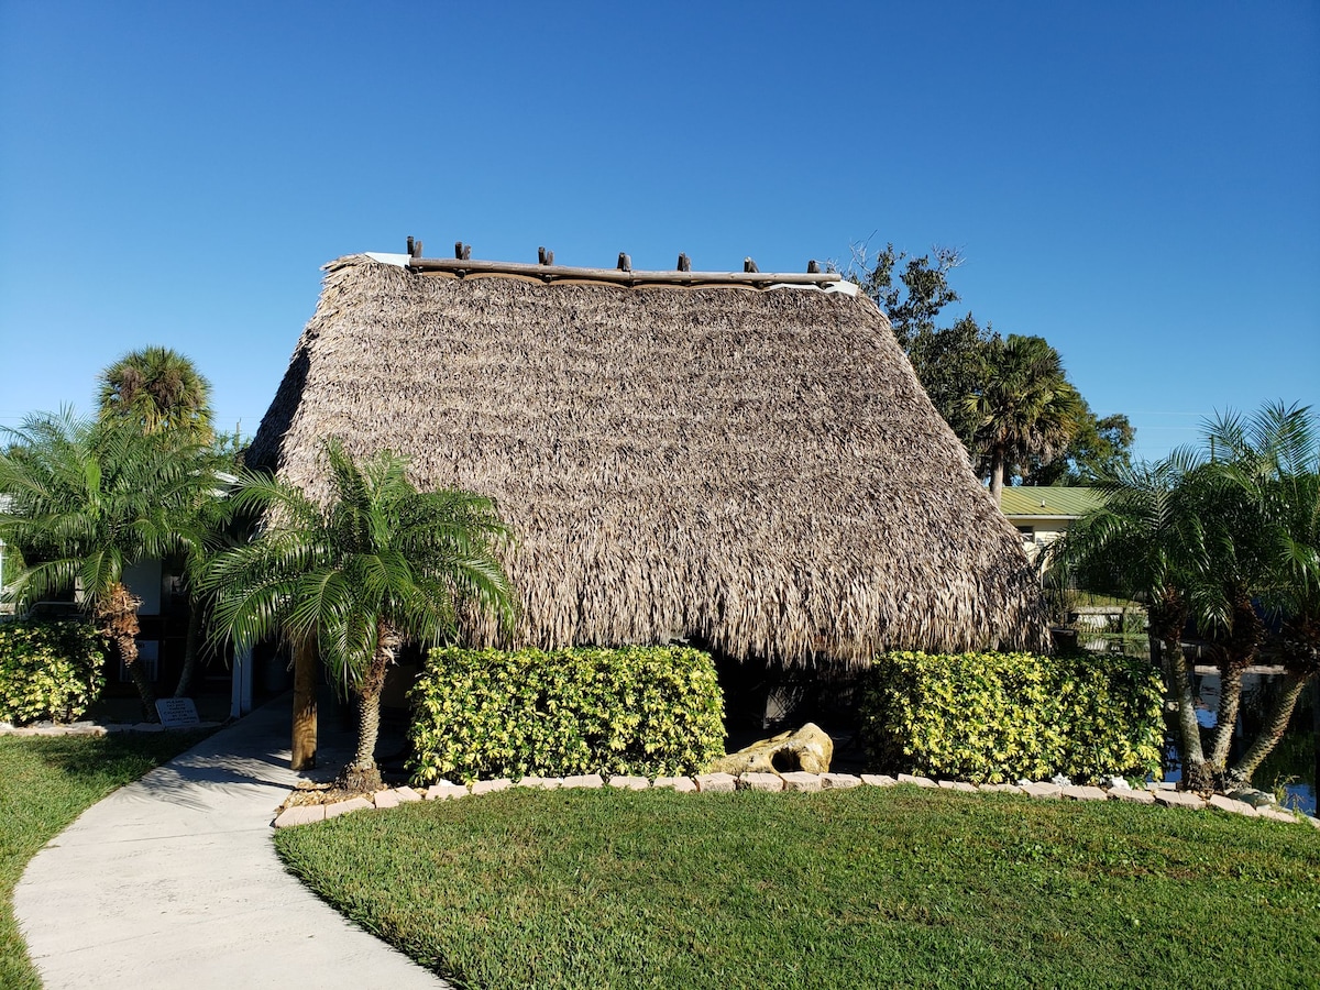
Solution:
<svg viewBox="0 0 1320 990"><path fill-rule="evenodd" d="M1181 458L1170 458L1126 467L1102 482L1104 504L1077 520L1049 548L1048 558L1096 590L1146 601L1151 656L1163 671L1166 697L1177 708L1183 787L1204 791L1210 776L1183 655L1188 589L1205 573L1200 506L1185 484L1192 467Z"/></svg>

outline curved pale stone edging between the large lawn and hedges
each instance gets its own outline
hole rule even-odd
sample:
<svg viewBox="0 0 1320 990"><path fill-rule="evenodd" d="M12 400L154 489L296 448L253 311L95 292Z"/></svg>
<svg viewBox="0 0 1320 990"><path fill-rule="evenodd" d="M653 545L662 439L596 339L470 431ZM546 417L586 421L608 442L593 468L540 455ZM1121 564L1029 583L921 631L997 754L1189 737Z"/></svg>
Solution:
<svg viewBox="0 0 1320 990"><path fill-rule="evenodd" d="M527 787L536 789L557 788L591 788L606 787L624 791L645 791L652 787L667 788L686 793L733 793L734 791L843 791L854 787L898 787L899 784L913 784L916 787L937 788L945 791L965 791L969 793L1014 793L1026 795L1041 800L1063 801L1131 801L1134 804L1163 805L1166 808L1192 808L1216 809L1241 814L1247 818L1270 818L1283 822L1307 822L1320 829L1320 818L1313 816L1286 812L1276 805L1253 805L1245 800L1237 800L1226 795L1214 795L1208 801L1187 791L1176 791L1168 784L1148 784L1146 789L1127 787L1080 787L1061 785L1049 781L1026 781L1022 784L969 784L962 780L931 780L929 777L899 774L896 777L884 774L805 774L793 771L789 774L700 774L694 777L657 777L655 781L647 777L612 776L603 777L599 774L586 774L572 777L523 777L510 780L477 780L470 785L454 784L449 780L438 780L425 791L414 791L411 787L396 787L378 791L370 799L352 797L335 804L304 804L285 808L275 818L272 825L277 829L292 825L306 825L313 821L325 821L348 812L366 808L397 808L400 804L412 801L449 801L458 797L478 796L507 791L513 787ZM296 793L296 792L292 792ZM1255 792L1261 793L1261 792Z"/></svg>

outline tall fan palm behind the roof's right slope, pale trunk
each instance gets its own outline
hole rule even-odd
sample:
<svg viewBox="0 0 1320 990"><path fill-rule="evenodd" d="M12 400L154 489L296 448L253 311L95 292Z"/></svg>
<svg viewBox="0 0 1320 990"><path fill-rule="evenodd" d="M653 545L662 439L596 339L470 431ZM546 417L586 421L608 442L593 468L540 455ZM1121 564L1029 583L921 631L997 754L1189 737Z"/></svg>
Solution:
<svg viewBox="0 0 1320 990"><path fill-rule="evenodd" d="M965 400L977 430L982 477L990 475L995 504L1006 471L1036 457L1049 463L1064 451L1084 412L1077 389L1064 374L1059 351L1043 337L993 339L986 343L982 387Z"/></svg>

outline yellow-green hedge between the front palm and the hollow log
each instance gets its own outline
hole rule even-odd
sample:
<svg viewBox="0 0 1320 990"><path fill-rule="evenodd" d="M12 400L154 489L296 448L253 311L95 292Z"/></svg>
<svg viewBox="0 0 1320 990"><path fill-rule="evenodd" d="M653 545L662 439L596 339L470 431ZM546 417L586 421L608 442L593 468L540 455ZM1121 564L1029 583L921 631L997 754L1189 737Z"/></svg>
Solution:
<svg viewBox="0 0 1320 990"><path fill-rule="evenodd" d="M433 649L411 698L418 784L671 776L723 754L714 663L685 647Z"/></svg>

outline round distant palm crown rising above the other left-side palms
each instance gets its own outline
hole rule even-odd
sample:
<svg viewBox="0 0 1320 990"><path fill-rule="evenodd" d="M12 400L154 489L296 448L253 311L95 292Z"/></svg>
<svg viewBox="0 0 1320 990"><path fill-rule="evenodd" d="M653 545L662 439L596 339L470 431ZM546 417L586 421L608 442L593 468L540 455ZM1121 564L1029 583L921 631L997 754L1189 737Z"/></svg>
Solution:
<svg viewBox="0 0 1320 990"><path fill-rule="evenodd" d="M178 430L199 444L214 440L211 384L178 351L129 351L99 381L102 418L135 422L145 433Z"/></svg>

